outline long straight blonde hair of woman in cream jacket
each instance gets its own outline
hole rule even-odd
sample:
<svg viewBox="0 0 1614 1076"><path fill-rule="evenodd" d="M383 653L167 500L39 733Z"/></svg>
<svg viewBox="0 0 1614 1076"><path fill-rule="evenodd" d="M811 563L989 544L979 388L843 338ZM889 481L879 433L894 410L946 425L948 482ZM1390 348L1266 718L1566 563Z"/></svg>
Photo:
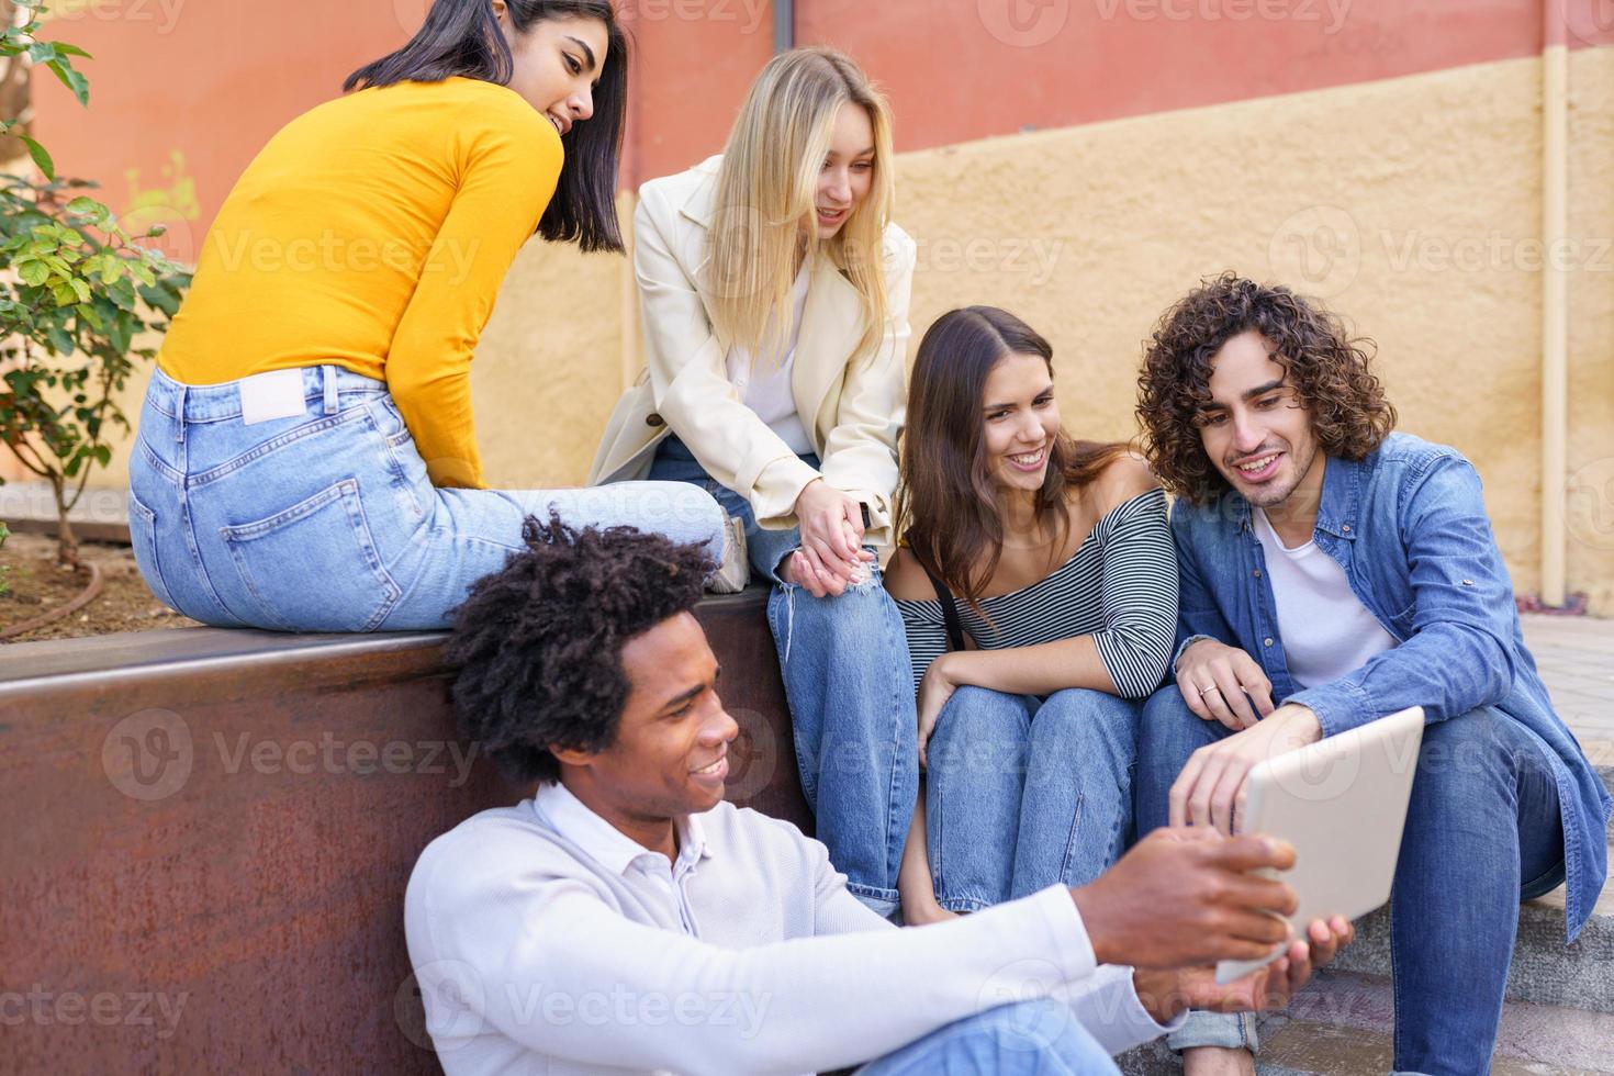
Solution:
<svg viewBox="0 0 1614 1076"><path fill-rule="evenodd" d="M809 47L762 69L723 150L707 236L712 327L725 347L771 353L783 340L796 274L801 221L815 211L818 173L843 105L868 111L875 166L868 195L828 242L809 226L807 261L828 256L863 297L867 326L857 355L884 332L884 231L891 219L891 108L849 56ZM851 358L851 357L849 357Z"/></svg>

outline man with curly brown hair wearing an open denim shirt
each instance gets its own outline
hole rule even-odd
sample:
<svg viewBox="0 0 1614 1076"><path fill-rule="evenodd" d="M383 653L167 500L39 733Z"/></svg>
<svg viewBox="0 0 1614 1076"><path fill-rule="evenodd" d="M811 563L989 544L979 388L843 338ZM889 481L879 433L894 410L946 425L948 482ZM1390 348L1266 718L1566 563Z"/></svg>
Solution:
<svg viewBox="0 0 1614 1076"><path fill-rule="evenodd" d="M1519 902L1603 889L1609 797L1553 711L1474 466L1391 432L1370 342L1225 274L1160 319L1144 450L1177 495L1175 686L1144 708L1139 832L1228 831L1249 769L1406 707L1428 726L1391 894L1394 1066L1490 1071ZM1248 1020L1193 1013L1185 1071L1251 1073Z"/></svg>

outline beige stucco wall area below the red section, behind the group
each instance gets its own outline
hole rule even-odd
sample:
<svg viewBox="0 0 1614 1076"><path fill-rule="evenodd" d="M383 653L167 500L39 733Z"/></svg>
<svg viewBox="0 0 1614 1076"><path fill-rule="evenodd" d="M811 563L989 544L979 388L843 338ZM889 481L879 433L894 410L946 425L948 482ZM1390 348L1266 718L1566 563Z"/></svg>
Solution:
<svg viewBox="0 0 1614 1076"><path fill-rule="evenodd" d="M1403 427L1475 461L1533 592L1540 71L1516 60L902 155L915 344L951 307L1007 307L1054 342L1067 423L1127 437L1139 342L1198 277L1231 268L1322 295L1377 339ZM1614 613L1614 48L1572 56L1570 94L1569 584ZM625 258L521 253L473 366L491 481L583 479L638 331Z"/></svg>

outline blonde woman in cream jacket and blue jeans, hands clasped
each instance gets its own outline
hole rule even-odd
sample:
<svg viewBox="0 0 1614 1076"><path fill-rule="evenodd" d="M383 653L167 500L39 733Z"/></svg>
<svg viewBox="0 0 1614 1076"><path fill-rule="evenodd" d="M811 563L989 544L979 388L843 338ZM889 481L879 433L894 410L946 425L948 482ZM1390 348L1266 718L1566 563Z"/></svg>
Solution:
<svg viewBox="0 0 1614 1076"><path fill-rule="evenodd" d="M744 531L818 839L881 913L915 795L914 682L873 545L891 540L914 240L891 115L847 56L775 56L728 147L634 216L649 369L594 479L675 479Z"/></svg>

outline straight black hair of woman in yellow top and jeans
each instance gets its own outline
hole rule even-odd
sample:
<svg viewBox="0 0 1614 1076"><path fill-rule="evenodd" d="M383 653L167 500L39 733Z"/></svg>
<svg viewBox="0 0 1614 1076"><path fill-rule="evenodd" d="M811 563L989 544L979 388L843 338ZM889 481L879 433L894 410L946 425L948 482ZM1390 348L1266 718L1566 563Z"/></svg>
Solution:
<svg viewBox="0 0 1614 1076"><path fill-rule="evenodd" d="M560 144L567 163L537 234L583 250L623 250L617 223L617 165L628 115L628 35L610 0L507 0L510 24L526 34L544 19L584 16L605 24L605 71L594 90L594 115ZM491 0L434 0L426 23L407 45L347 76L344 90L395 82L441 82L454 76L508 85L515 60Z"/></svg>

